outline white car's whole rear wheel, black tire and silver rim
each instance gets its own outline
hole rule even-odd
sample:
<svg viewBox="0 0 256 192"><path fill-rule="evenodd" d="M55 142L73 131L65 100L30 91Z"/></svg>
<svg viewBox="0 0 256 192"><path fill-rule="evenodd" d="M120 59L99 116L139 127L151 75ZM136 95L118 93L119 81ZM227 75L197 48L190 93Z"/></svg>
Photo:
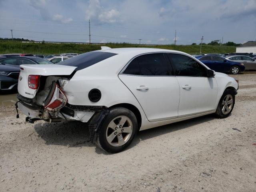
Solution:
<svg viewBox="0 0 256 192"><path fill-rule="evenodd" d="M132 111L112 108L99 127L96 144L110 153L121 152L134 140L137 130L137 119Z"/></svg>

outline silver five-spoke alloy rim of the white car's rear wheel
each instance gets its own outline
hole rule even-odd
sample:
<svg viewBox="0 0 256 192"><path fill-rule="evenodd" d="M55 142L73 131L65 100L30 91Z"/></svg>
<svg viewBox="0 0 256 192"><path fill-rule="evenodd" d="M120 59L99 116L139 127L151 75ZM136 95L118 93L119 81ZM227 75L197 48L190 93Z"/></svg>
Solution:
<svg viewBox="0 0 256 192"><path fill-rule="evenodd" d="M106 130L106 139L112 146L124 145L132 136L132 121L127 116L118 116L111 120Z"/></svg>

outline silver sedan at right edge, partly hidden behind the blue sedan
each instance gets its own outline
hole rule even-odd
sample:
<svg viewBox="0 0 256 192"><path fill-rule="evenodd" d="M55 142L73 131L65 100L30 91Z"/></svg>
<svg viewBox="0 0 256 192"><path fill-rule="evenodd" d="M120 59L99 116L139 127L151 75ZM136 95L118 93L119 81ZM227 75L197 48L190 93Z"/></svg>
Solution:
<svg viewBox="0 0 256 192"><path fill-rule="evenodd" d="M256 61L254 58L251 58L249 56L234 55L234 56L226 57L226 59L243 63L246 71L247 70L256 70Z"/></svg>

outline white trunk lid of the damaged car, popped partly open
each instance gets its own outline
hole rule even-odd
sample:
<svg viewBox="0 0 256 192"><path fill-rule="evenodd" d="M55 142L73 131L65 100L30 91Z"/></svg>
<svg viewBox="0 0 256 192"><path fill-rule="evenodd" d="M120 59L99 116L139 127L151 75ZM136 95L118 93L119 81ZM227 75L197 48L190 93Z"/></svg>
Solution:
<svg viewBox="0 0 256 192"><path fill-rule="evenodd" d="M56 64L20 65L18 92L24 97L34 98L37 90L28 87L29 75L62 76L70 75L76 67Z"/></svg>

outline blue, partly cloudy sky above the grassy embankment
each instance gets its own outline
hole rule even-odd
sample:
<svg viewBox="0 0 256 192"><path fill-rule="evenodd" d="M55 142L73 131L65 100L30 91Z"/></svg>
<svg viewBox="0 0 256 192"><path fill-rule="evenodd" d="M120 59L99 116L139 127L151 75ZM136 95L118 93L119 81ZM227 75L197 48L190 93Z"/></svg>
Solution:
<svg viewBox="0 0 256 192"><path fill-rule="evenodd" d="M256 0L0 0L0 37L142 44L256 40Z"/></svg>

